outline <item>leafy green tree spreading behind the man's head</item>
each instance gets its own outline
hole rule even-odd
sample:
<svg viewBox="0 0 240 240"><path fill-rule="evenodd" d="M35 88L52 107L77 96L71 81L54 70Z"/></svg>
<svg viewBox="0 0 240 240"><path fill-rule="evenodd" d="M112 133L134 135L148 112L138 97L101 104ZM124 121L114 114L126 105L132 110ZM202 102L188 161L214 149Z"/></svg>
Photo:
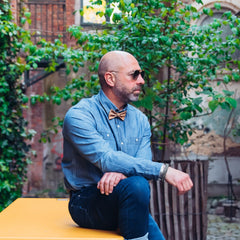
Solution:
<svg viewBox="0 0 240 240"><path fill-rule="evenodd" d="M92 3L101 5L102 1ZM118 6L120 12L114 12L114 6ZM220 4L214 6L221 10ZM79 12L84 16L83 9ZM79 78L64 89L53 87L47 100L61 104L61 100L72 99L75 104L95 93L98 90L95 73L101 56L108 51L124 50L132 53L147 73L144 94L135 105L148 115L154 139L184 144L193 131L188 120L210 114L217 107L228 110L236 107L234 92L216 92L212 85L214 81L220 85L240 79L240 61L232 58L240 48L240 19L230 11L209 25L196 26L194 23L200 16L211 17L213 10L203 8L198 12L177 0L110 0L105 11L97 15L111 22L90 25L91 31L80 26L69 28L72 38L76 39L75 48L64 50L59 42L53 44L54 48L44 41L40 43L43 52L46 46L48 50L54 49L47 54L52 55L51 59L64 59L67 74L71 70L79 73ZM225 39L222 26L231 29ZM90 81L82 74L81 67L85 65L92 72ZM191 96L189 90L197 96ZM204 96L209 99L208 109L202 105ZM35 96L34 101L44 100L42 96Z"/></svg>

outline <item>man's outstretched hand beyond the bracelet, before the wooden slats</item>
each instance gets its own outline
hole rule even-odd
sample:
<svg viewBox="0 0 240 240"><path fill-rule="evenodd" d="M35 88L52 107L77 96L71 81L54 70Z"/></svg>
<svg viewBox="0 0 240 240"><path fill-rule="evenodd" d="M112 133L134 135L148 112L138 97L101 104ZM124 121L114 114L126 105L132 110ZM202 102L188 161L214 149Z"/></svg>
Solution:
<svg viewBox="0 0 240 240"><path fill-rule="evenodd" d="M177 187L179 194L186 193L193 186L192 180L187 173L184 173L171 167L169 167L167 170L165 180L169 184Z"/></svg>

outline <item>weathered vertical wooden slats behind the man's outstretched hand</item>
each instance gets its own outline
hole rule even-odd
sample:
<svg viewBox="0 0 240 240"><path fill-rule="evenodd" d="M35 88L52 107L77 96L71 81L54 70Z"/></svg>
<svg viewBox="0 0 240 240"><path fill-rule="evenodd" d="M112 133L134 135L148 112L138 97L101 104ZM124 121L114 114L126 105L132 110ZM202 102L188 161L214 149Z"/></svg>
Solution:
<svg viewBox="0 0 240 240"><path fill-rule="evenodd" d="M187 172L194 187L178 195L168 183L151 181L151 214L166 240L206 240L208 161L173 161L171 165Z"/></svg>

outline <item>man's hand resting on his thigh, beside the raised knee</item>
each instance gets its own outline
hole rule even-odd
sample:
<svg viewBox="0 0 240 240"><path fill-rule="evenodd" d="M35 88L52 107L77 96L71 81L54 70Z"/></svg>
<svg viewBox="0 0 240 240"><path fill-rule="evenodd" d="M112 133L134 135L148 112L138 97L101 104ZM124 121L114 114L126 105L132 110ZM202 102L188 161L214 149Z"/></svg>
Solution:
<svg viewBox="0 0 240 240"><path fill-rule="evenodd" d="M112 193L113 188L122 180L127 178L122 173L117 172L107 172L104 173L100 181L98 182L97 188L102 194L109 195Z"/></svg>

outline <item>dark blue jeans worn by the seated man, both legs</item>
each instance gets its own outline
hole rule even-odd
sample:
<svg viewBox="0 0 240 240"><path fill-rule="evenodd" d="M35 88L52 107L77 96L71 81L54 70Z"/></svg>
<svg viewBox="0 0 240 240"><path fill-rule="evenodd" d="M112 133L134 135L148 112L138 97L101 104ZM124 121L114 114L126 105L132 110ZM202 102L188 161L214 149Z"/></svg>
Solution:
<svg viewBox="0 0 240 240"><path fill-rule="evenodd" d="M69 212L80 227L119 229L125 239L148 233L148 239L162 240L164 237L149 214L149 199L147 180L135 176L121 180L108 196L101 194L96 186L72 192Z"/></svg>

